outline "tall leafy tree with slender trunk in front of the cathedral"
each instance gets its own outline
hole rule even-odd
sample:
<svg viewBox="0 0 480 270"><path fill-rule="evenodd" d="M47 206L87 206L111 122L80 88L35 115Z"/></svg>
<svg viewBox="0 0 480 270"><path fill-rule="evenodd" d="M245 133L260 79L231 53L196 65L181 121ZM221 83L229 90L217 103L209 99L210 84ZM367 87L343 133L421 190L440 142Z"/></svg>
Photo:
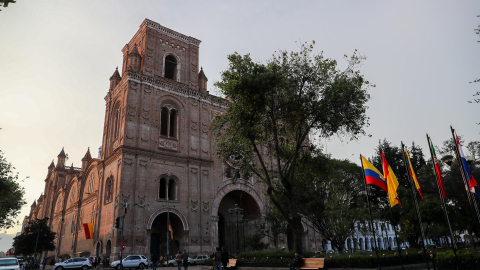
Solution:
<svg viewBox="0 0 480 270"><path fill-rule="evenodd" d="M230 100L214 124L218 155L266 185L267 197L293 230L299 254L299 159L309 155L309 146L319 137L355 139L368 125L370 84L357 70L364 58L355 52L340 70L337 61L312 51L313 45L305 43L299 52L275 53L266 64L234 53L215 84Z"/></svg>

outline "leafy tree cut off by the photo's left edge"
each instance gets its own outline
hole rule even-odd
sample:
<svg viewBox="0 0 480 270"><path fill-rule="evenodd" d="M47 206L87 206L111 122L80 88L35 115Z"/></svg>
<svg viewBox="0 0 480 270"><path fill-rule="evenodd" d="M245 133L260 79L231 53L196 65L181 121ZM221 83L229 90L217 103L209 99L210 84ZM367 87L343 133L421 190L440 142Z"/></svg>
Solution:
<svg viewBox="0 0 480 270"><path fill-rule="evenodd" d="M20 186L18 173L7 162L0 151L0 229L8 229L15 225L15 218L27 202L24 200L25 190Z"/></svg>

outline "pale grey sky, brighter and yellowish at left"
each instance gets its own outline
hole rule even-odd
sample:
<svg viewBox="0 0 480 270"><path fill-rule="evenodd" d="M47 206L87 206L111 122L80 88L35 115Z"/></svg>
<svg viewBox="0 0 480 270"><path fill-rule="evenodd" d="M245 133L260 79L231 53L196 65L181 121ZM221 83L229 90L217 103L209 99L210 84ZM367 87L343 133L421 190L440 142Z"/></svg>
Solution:
<svg viewBox="0 0 480 270"><path fill-rule="evenodd" d="M441 144L450 125L479 140L480 104L468 103L480 90L469 83L480 78L479 1L18 0L0 9L0 150L25 187L20 222L62 147L76 167L88 147L98 151L109 78L145 18L202 41L210 92L233 52L265 62L315 40L315 51L345 67L343 55L357 49L367 57L361 73L376 85L372 136L322 140L334 158L370 157L384 138L428 153L425 133ZM0 239L0 251L10 245Z"/></svg>

